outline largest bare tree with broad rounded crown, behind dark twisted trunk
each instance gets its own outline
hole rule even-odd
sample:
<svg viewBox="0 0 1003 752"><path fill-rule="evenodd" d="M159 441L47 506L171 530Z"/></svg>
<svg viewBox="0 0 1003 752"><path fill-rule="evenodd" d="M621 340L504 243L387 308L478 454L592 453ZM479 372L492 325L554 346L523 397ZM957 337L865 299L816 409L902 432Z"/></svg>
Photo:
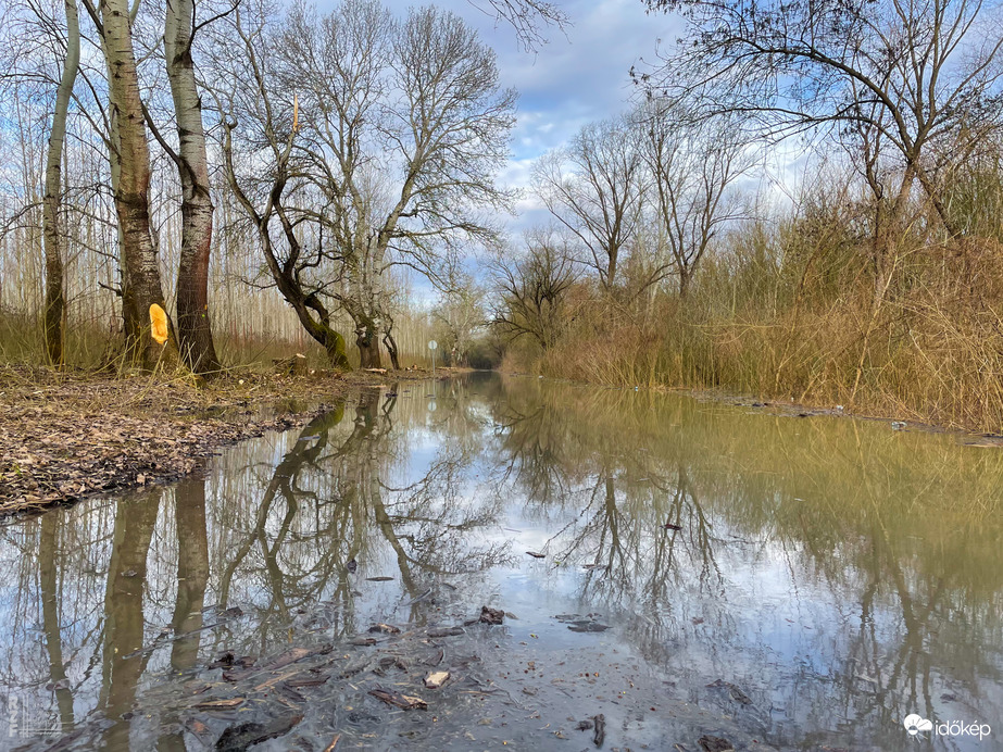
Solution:
<svg viewBox="0 0 1003 752"><path fill-rule="evenodd" d="M506 155L515 93L500 89L494 54L476 33L439 10L398 21L371 0L325 16L296 8L271 36L262 24L241 30L242 13L235 17L254 97L241 101L234 89L224 106L253 124L243 143L267 143L265 172L280 178L256 189L296 248L268 262L272 276L293 308L340 306L362 366L378 367L388 271L404 265L435 279L448 249L494 237L480 212L509 202L493 176ZM240 135L234 122L230 139ZM225 151L233 155L233 142ZM229 164L249 198L261 160L243 176Z"/></svg>

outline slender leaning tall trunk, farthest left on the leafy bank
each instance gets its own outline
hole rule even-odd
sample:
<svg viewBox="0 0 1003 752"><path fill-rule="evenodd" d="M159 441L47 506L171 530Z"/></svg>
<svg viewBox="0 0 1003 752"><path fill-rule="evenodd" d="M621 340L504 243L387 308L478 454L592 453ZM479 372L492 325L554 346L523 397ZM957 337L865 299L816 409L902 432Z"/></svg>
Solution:
<svg viewBox="0 0 1003 752"><path fill-rule="evenodd" d="M46 245L46 350L52 365L63 363L63 250L59 227L62 203L63 142L66 139L66 115L70 97L80 64L80 22L76 0L65 0L66 59L63 76L55 90L55 112L49 134L49 153L46 156L46 197L42 200L42 236Z"/></svg>

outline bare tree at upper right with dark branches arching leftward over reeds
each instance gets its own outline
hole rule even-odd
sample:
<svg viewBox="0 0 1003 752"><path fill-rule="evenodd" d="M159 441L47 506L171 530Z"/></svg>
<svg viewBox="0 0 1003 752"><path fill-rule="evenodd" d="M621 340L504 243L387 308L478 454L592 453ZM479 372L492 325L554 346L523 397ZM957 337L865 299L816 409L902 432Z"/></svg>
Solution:
<svg viewBox="0 0 1003 752"><path fill-rule="evenodd" d="M635 71L649 91L758 115L772 135L876 131L900 163L903 191L918 181L948 235L962 234L943 179L1003 126L998 0L644 1L684 11L687 23L660 70Z"/></svg>

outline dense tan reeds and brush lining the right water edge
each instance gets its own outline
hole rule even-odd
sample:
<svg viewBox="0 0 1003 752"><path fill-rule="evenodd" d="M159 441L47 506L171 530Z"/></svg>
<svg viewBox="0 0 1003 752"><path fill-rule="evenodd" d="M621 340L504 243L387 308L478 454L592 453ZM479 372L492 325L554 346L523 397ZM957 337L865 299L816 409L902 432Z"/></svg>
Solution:
<svg viewBox="0 0 1003 752"><path fill-rule="evenodd" d="M982 235L944 239L919 216L878 277L864 210L823 210L735 229L685 299L672 277L643 293L579 284L556 344L523 338L507 367L1003 430L1000 233L973 222Z"/></svg>

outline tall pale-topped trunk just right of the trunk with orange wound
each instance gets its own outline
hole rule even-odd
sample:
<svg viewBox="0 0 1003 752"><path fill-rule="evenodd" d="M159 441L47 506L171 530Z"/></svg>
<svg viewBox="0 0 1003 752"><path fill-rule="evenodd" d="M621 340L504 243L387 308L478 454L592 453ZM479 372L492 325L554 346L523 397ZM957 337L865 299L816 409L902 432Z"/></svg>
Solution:
<svg viewBox="0 0 1003 752"><path fill-rule="evenodd" d="M209 318L209 254L213 204L202 101L191 59L195 0L168 0L164 57L177 118L177 166L181 181L181 258L177 268L177 335L196 373L220 369Z"/></svg>

